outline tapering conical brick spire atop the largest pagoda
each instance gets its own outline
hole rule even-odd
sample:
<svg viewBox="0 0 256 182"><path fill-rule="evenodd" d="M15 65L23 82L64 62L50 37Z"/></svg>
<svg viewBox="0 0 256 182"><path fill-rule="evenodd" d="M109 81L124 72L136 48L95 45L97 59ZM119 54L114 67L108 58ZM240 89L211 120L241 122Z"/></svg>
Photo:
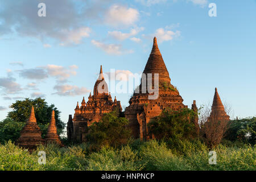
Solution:
<svg viewBox="0 0 256 182"><path fill-rule="evenodd" d="M171 82L171 78L169 76L169 72L167 71L166 64L164 64L163 57L161 55L161 52L159 51L156 38L154 38L152 51L150 53L150 56L148 57L147 64L144 68L143 73L152 73L152 77L154 77L154 73L158 73L159 85L160 82L166 82L166 84L170 84Z"/></svg>

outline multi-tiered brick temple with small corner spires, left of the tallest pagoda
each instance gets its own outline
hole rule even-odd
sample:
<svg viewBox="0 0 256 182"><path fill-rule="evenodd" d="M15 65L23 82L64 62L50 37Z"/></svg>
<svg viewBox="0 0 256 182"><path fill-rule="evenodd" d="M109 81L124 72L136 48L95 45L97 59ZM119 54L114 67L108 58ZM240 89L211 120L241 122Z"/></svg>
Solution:
<svg viewBox="0 0 256 182"><path fill-rule="evenodd" d="M78 142L84 142L86 140L85 134L88 131L87 127L93 122L100 122L105 113L110 113L114 110L116 110L118 114L121 113L121 103L117 101L116 97L114 101L112 100L111 94L108 91L108 85L104 80L101 66L100 74L94 84L93 96L90 93L87 102L85 102L83 98L81 107L79 106L79 102L77 102L73 123L71 123L71 121L68 123L68 137Z"/></svg>

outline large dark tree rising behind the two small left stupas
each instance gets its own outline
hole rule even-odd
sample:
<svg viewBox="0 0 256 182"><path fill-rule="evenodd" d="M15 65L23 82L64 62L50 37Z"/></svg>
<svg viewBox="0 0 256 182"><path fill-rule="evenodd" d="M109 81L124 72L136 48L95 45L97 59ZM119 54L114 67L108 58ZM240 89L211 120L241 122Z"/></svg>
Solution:
<svg viewBox="0 0 256 182"><path fill-rule="evenodd" d="M27 119L30 117L32 106L34 106L36 122L42 130L43 138L47 133L47 127L51 121L52 110L55 111L57 133L59 135L63 134L65 124L60 120L60 111L57 110L55 105L48 105L47 102L40 97L35 98L34 100L25 98L23 101L16 101L10 106L13 111L10 111L7 117L12 119L14 122L26 123Z"/></svg>

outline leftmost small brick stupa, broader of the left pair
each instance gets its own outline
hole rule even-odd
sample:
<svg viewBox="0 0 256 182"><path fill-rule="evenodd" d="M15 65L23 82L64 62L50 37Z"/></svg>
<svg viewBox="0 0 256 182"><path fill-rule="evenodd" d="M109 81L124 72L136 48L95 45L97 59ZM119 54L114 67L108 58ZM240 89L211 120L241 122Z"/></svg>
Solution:
<svg viewBox="0 0 256 182"><path fill-rule="evenodd" d="M32 151L39 144L44 144L44 139L41 137L41 130L36 123L34 106L32 106L30 118L28 118L26 125L20 132L20 137L16 142L20 147L27 148L28 151Z"/></svg>

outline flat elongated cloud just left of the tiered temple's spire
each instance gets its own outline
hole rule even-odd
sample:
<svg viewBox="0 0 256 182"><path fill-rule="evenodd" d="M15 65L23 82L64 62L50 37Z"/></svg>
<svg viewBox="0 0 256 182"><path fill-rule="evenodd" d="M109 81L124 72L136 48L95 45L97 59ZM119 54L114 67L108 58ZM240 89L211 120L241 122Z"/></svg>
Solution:
<svg viewBox="0 0 256 182"><path fill-rule="evenodd" d="M90 90L85 87L82 86L79 88L76 85L56 85L53 89L57 90L57 92L53 94L57 94L59 96L80 96L90 92Z"/></svg>

